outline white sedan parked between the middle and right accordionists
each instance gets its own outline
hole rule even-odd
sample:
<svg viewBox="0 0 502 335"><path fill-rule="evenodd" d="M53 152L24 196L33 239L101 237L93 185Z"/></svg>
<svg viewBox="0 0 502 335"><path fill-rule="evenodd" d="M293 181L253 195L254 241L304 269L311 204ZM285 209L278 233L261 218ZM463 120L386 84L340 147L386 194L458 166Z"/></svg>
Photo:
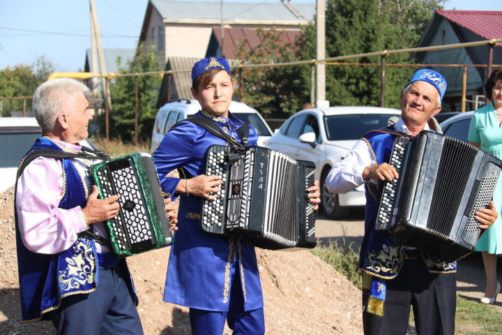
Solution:
<svg viewBox="0 0 502 335"><path fill-rule="evenodd" d="M330 193L326 175L368 131L399 119L400 110L381 107L328 107L302 110L289 117L267 147L294 159L312 161L321 186L321 208L328 218L344 218L350 207L366 203L364 186L348 193Z"/></svg>

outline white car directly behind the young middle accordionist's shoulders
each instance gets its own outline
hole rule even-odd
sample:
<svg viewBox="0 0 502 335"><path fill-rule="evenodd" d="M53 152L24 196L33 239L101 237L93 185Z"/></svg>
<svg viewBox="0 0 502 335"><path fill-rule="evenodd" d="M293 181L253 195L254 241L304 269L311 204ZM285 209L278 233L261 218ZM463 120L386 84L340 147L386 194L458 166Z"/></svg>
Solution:
<svg viewBox="0 0 502 335"><path fill-rule="evenodd" d="M201 110L199 101L188 99L166 103L160 107L155 117L155 124L153 124L150 151L153 153L158 148L162 138L174 124L199 112L199 110ZM266 140L271 137L272 131L259 112L245 103L237 101L230 103L229 111L241 121L253 126L258 133L258 145L264 147Z"/></svg>

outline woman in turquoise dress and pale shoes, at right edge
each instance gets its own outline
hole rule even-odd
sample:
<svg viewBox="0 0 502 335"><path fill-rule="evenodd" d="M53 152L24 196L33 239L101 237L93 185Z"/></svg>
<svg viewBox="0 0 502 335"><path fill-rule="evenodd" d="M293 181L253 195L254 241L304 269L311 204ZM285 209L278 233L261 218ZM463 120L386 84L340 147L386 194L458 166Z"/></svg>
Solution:
<svg viewBox="0 0 502 335"><path fill-rule="evenodd" d="M492 103L476 110L469 126L469 143L502 159L502 70L494 70L485 84L486 96ZM502 177L502 176L501 176ZM484 304L494 304L501 285L496 278L497 254L502 253L502 178L494 192L494 203L499 217L480 237L476 250L482 251L487 285Z"/></svg>

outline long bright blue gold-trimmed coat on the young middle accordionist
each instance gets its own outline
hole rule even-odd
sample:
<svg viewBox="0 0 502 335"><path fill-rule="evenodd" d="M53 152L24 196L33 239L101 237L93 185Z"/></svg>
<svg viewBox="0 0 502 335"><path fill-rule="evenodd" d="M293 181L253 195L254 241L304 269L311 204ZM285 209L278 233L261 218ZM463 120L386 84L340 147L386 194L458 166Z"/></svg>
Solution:
<svg viewBox="0 0 502 335"><path fill-rule="evenodd" d="M207 112L197 115L212 119L223 131L238 138L235 130L243 123L231 113L228 119ZM249 144L256 145L257 138L250 127ZM227 145L225 140L189 121L172 128L153 154L162 191L175 193L179 179L166 174L176 168L183 166L190 174L187 178L204 174L204 157L211 144ZM263 307L254 246L238 238L203 232L199 227L200 199L181 194L164 301L206 311L228 311L231 285L234 276L240 274L245 311Z"/></svg>

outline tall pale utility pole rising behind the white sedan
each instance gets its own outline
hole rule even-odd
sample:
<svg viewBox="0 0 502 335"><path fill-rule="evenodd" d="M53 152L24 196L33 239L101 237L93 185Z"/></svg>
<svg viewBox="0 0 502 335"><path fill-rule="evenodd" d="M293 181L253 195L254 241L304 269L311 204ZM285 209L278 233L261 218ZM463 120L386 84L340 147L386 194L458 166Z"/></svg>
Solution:
<svg viewBox="0 0 502 335"><path fill-rule="evenodd" d="M324 0L316 1L317 53L316 59L326 59L326 6ZM329 107L326 101L326 64L316 64L316 107Z"/></svg>

